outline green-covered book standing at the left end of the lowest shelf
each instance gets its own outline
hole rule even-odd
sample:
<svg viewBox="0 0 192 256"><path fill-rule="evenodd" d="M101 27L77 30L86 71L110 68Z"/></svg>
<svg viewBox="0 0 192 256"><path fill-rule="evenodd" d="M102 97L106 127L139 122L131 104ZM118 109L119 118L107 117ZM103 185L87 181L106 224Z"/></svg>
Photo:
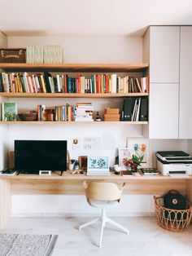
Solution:
<svg viewBox="0 0 192 256"><path fill-rule="evenodd" d="M2 103L2 121L16 121L17 106L15 103Z"/></svg>

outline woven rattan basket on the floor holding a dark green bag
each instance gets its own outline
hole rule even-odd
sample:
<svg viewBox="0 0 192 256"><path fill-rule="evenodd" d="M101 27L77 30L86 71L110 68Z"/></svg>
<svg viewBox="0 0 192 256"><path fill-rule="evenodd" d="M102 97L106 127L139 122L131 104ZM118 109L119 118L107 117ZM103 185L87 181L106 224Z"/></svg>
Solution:
<svg viewBox="0 0 192 256"><path fill-rule="evenodd" d="M155 213L160 227L171 232L183 232L190 224L192 208L188 203L186 210L172 210L164 207L164 197L154 196Z"/></svg>

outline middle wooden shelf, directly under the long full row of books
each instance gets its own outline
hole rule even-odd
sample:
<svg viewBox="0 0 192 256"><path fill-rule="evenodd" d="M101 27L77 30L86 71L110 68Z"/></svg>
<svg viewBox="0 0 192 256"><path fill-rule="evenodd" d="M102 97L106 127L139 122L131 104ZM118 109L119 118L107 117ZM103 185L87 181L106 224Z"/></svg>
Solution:
<svg viewBox="0 0 192 256"><path fill-rule="evenodd" d="M123 98L148 96L148 93L20 93L0 92L6 98Z"/></svg>

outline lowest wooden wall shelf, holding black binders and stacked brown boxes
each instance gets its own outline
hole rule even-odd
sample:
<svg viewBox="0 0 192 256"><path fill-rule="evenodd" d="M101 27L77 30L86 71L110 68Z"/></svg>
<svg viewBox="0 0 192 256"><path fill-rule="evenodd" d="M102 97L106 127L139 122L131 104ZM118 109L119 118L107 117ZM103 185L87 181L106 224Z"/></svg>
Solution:
<svg viewBox="0 0 192 256"><path fill-rule="evenodd" d="M83 124L118 124L118 125L147 125L148 121L0 121L0 125L83 125Z"/></svg>

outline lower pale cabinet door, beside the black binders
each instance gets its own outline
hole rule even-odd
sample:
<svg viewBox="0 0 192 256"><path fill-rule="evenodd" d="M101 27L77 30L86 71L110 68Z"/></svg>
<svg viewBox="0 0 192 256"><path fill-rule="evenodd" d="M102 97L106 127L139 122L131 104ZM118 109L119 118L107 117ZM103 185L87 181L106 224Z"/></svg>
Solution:
<svg viewBox="0 0 192 256"><path fill-rule="evenodd" d="M178 83L151 83L151 139L178 139Z"/></svg>

